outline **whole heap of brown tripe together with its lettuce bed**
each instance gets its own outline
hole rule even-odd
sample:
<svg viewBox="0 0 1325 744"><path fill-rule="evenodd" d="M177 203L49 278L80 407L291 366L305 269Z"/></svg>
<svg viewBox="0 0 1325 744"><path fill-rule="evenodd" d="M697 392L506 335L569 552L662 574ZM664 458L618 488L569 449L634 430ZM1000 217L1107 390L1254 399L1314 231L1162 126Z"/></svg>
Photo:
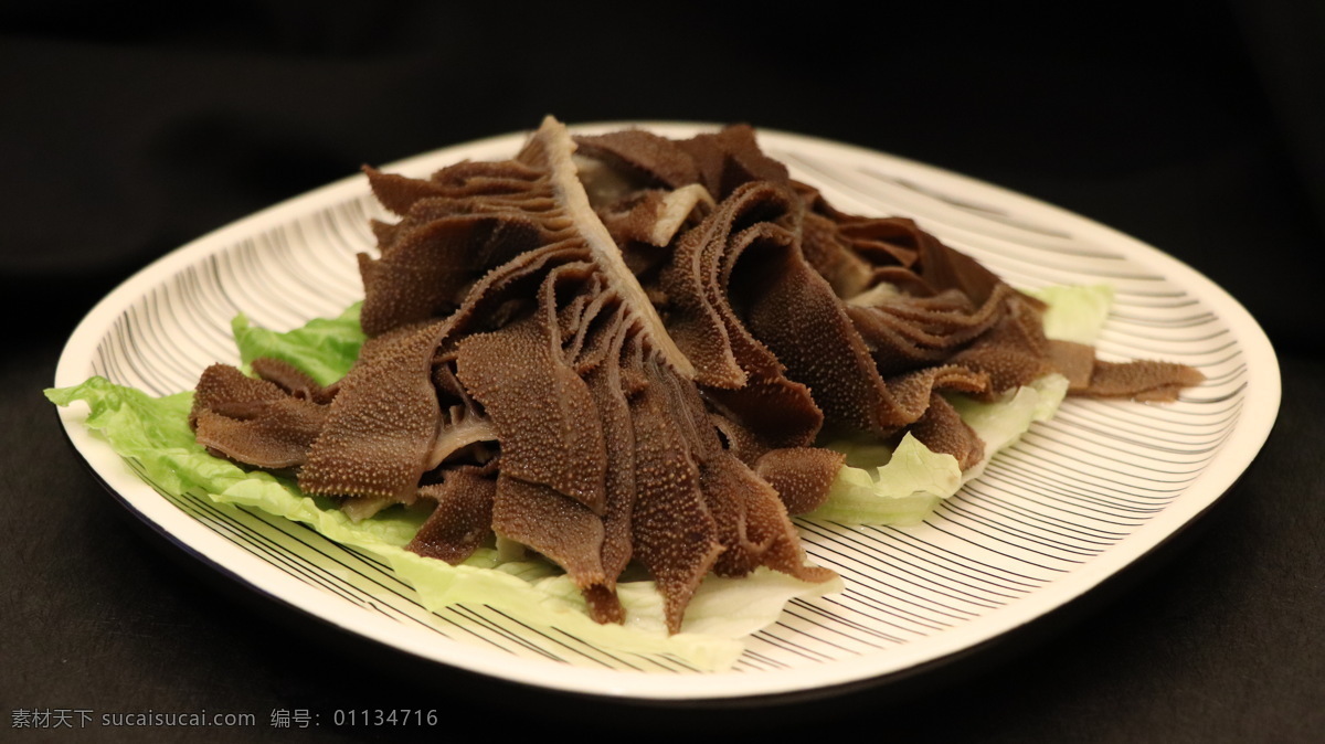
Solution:
<svg viewBox="0 0 1325 744"><path fill-rule="evenodd" d="M52 397L106 432L151 409L168 446L132 457L158 482L386 555L429 606L481 594L465 581L545 605L522 573L611 628L641 614L623 576L643 571L677 634L709 586L833 585L792 515L914 522L1064 393L1202 380L1047 335L1047 310L1100 293L1032 297L908 218L840 212L743 126L572 138L549 118L510 160L367 175L396 218L360 256L362 308L307 344L238 319L245 369L184 398Z"/></svg>

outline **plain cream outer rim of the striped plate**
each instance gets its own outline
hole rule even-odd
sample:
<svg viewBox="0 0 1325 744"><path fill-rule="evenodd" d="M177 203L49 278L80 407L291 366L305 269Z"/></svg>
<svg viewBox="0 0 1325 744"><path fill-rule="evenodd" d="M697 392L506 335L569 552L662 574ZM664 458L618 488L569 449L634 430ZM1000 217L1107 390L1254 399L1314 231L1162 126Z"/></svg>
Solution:
<svg viewBox="0 0 1325 744"><path fill-rule="evenodd" d="M710 131L718 126L719 124L704 122L627 120L594 122L576 124L571 128L572 131L579 132L592 132L610 131L612 128L623 127L641 127L662 134L678 135L693 131ZM530 131L531 130L507 132L452 144L388 163L382 165L380 169L390 172L417 172L421 168L436 167L433 164L447 162L447 159L454 160L460 154L502 148L511 152L519 146ZM945 168L867 147L811 135L771 128L757 128L757 134L761 144L765 146L772 142L779 144L794 144L795 147L804 147L811 151L829 151L833 152L835 156L851 154L869 159L881 158L890 164L897 164L906 171L922 173L925 177L938 180L939 183L951 183L962 187L963 189L973 188L978 192L996 196L1000 200L1011 200L1012 203L1030 208L1035 213L1047 216L1051 221L1065 220L1069 224L1085 229L1086 233L1097 236L1110 245L1124 248L1129 261L1143 258L1146 265L1155 267L1157 273L1163 275L1166 279L1178 283L1186 291L1210 304L1210 310L1228 326L1248 361L1248 377L1246 383L1246 392L1243 393L1243 408L1239 413L1239 421L1232 426L1227 441L1220 445L1220 457L1203 467L1200 475L1187 486L1187 491L1191 491L1196 488L1199 483L1211 492L1202 495L1199 499L1195 496L1177 499L1174 503L1166 506L1165 511L1158 515L1163 519L1158 519L1157 516L1155 519L1147 520L1145 524L1136 528L1134 532L1129 534L1125 540L1120 541L1120 544L1113 545L1109 551L1094 556L1088 565L1075 571L1071 580L1055 581L1037 588L1034 596L1039 601L1031 602L1031 597L1027 597L1019 602L1019 606L1035 605L1035 608L1030 612L1003 612L998 613L1000 617L996 621L991 621L986 617L979 628L975 629L971 628L973 624L967 624L966 626L945 630L942 637L946 641L939 645L945 647L951 646L947 653L933 654L926 650L929 645L916 642L889 649L886 653L892 655L894 663L889 665L889 669L886 670L878 669L878 663L876 661L878 654L869 654L855 659L839 659L823 665L823 667L814 669L761 671L754 674L710 673L702 675L685 675L680 678L684 679L682 684L666 686L657 682L677 678L623 673L615 670L582 669L567 665L555 665L551 662L523 663L523 659L511 659L507 655L494 655L498 653L474 649L462 642L444 643L443 646L448 651L445 654L428 653L427 649L412 647L409 645L401 645L400 642L380 638L378 634L371 633L371 628L364 628L364 618L362 617L327 617L314 609L319 600L319 597L313 596L317 594L315 590L306 586L295 586L293 588L295 589L293 592L294 596L290 597L288 596L289 592L277 592L270 586L272 584L281 584L281 581L264 581L261 580L262 577L260 573L256 576L256 580L254 575L249 572L261 572L262 567L252 563L254 561L253 556L248 556L237 545L224 541L219 535L209 531L203 523L184 514L175 504L159 496L150 486L138 479L136 474L134 474L123 463L123 461L118 458L118 455L109 451L98 453L97 447L105 447L109 450L109 446L106 446L101 440L90 436L86 428L82 426L83 409L81 406L60 409L60 417L62 420L66 437L83 458L86 465L93 470L95 479L103 487L110 490L117 502L129 508L134 516L146 522L155 532L183 548L184 552L201 560L205 565L208 565L208 568L224 568L223 573L228 573L229 577L236 579L245 588L261 592L281 604L294 606L305 614L326 621L342 630L354 633L358 637L384 643L429 662L456 666L466 671L551 690L606 698L649 699L659 702L731 700L741 698L763 698L770 695L806 692L819 687L855 687L856 684L868 680L884 682L888 678L896 678L906 670L926 666L929 662L942 662L945 658L961 655L965 650L977 647L983 642L996 641L1016 628L1034 622L1035 620L1049 614L1055 609L1068 605L1071 601L1088 593L1109 577L1118 575L1126 567L1140 563L1146 557L1146 555L1157 549L1167 539L1190 527L1195 519L1208 511L1210 507L1227 494L1227 491L1238 482L1240 475L1251 466L1252 459L1255 459L1256 454L1264 446L1264 442L1273 428L1275 420L1277 418L1281 400L1279 361L1273 347L1265 336L1264 330L1235 298L1191 266L1163 253L1158 248L1102 225L1089 217L1055 207L1036 197L1014 192L1011 189ZM73 334L70 334L56 367L56 387L76 385L87 377L90 353L95 349L99 340L105 338L107 327L114 323L114 320L129 306L142 297L146 290L160 283L163 278L170 278L186 266L195 263L197 259L223 250L233 242L233 237L253 234L254 232L281 222L284 218L298 217L329 204L339 203L343 199L356 197L364 193L367 193L367 181L362 173L338 179L330 184L282 200L258 212L223 225L168 252L147 266L139 269L131 277L121 282L105 298L97 302L78 323ZM89 450L89 447L93 449ZM106 471L107 469L110 473ZM1211 486L1211 481L1218 481L1223 485ZM155 498L160 502L160 504L156 504L155 508L142 508L142 503L135 502L132 495L126 494L122 490L130 488L132 491L135 487L143 488L150 494L150 496L139 494L138 498L147 498L147 503L151 503L151 499ZM1185 491L1185 495L1187 491ZM162 516L166 516L162 512L162 507L174 510L175 514L172 516L176 519L170 519L168 516L164 520L160 519ZM191 523L192 528L187 524L182 524L182 520ZM1177 524L1173 524L1174 522L1177 522ZM197 543L193 540L201 541L205 547L223 551L223 557L227 560L221 561L212 552L204 552L201 548L197 548ZM216 541L215 544L212 544L213 540ZM1128 545L1124 545L1124 543L1128 543ZM235 551L236 555L228 555L229 551ZM282 586L281 589L292 588ZM307 590L307 596L305 596L303 590ZM350 614L354 616L358 613ZM962 639L967 635L974 638ZM954 637L957 638L955 641ZM437 645L435 637L428 637L428 642L433 646ZM466 649L481 653L466 653ZM521 663L511 663L513 661ZM527 671L525 667L534 665L546 667L546 674L534 674L533 678L529 674L525 674ZM513 673L511 667L521 671L521 674ZM815 678L825 676L824 674L815 674L818 669L831 669L833 674L828 676L832 676L833 680L815 682ZM745 682L737 684L741 680ZM751 684L751 680L759 680L759 683Z"/></svg>

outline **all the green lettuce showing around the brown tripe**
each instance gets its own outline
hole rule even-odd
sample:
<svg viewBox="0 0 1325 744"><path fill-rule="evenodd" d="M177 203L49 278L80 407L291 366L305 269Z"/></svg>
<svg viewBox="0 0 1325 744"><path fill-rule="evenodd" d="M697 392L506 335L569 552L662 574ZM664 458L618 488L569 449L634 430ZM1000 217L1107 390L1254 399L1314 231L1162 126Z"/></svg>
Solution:
<svg viewBox="0 0 1325 744"><path fill-rule="evenodd" d="M1093 340L1112 293L1108 287L1055 287L1039 297L1049 303L1045 318L1047 327L1052 319L1052 338ZM242 315L232 328L245 367L260 356L277 357L323 385L350 369L364 342L358 304L338 318L315 319L286 332L254 327ZM991 455L1015 442L1032 422L1052 416L1065 392L1067 380L1051 375L996 402L954 396L953 404ZM454 567L423 557L404 548L423 522L419 512L391 508L355 523L331 499L307 496L288 478L249 471L208 454L188 426L192 392L158 398L93 377L45 393L61 406L85 402L86 425L121 457L136 462L156 487L299 522L342 545L371 552L432 612L484 604L531 628L556 628L611 651L668 654L696 669L722 670L742 653L742 639L775 622L788 601L841 590L840 581L806 584L768 569L743 579L709 576L686 609L682 633L668 635L662 598L653 582L623 581L617 593L627 609L625 625L599 625L586 613L574 582L547 561L523 560L518 551L517 560L510 560L511 552L497 547L480 548ZM847 465L827 503L808 515L814 519L914 524L978 474L978 469L962 473L954 457L930 451L909 434L896 450L873 441L841 440L828 446L844 451Z"/></svg>

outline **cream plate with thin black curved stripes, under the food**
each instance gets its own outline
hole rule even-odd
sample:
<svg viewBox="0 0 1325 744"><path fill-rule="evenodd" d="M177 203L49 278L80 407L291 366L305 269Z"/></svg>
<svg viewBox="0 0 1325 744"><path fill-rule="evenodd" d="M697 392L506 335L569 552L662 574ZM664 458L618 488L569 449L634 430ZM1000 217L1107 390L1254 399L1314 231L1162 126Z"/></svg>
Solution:
<svg viewBox="0 0 1325 744"><path fill-rule="evenodd" d="M576 127L607 131L625 123ZM698 124L635 123L668 136ZM511 156L525 134L384 167L423 176L461 159ZM485 608L431 614L370 555L207 499L166 496L61 410L69 438L138 518L240 582L423 659L588 695L713 700L849 687L984 645L1097 586L1182 530L1247 469L1279 409L1264 332L1186 265L1026 196L896 156L778 131L761 146L839 209L913 217L1020 287L1113 285L1105 359L1165 357L1207 381L1167 405L1068 400L925 523L798 520L811 559L845 590L790 604L730 671L613 658L537 634ZM360 295L355 256L387 214L362 176L272 207L186 245L119 286L70 338L56 385L91 375L155 395L236 363L229 322L286 330ZM661 674L651 674L657 671Z"/></svg>

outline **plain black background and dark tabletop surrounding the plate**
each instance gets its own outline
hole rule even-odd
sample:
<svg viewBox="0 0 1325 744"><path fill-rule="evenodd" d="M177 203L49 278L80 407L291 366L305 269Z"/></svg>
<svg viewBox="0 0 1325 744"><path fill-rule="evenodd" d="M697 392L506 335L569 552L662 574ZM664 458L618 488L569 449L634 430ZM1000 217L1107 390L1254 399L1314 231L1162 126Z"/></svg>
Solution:
<svg viewBox="0 0 1325 744"><path fill-rule="evenodd" d="M1061 7L1059 7L1061 5ZM1313 1L102 3L0 9L0 740L20 708L253 712L70 740L787 733L1325 740L1325 7ZM1068 9L1071 8L1071 9ZM41 397L80 318L274 201L543 114L750 122L942 165L1195 266L1271 336L1284 406L1199 530L1089 602L909 683L665 712L371 661L158 549ZM335 708L452 728L334 728ZM269 728L305 708L314 729Z"/></svg>

